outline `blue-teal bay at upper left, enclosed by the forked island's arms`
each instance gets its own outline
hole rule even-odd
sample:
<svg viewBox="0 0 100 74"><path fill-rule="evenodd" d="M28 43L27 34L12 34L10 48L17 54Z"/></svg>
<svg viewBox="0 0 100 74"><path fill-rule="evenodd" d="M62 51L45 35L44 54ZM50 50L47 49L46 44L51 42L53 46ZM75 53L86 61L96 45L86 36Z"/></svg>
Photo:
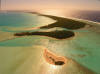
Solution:
<svg viewBox="0 0 100 74"><path fill-rule="evenodd" d="M45 22L43 22L45 21ZM7 27L39 27L48 25L54 20L36 14L8 12L0 13L0 26Z"/></svg>

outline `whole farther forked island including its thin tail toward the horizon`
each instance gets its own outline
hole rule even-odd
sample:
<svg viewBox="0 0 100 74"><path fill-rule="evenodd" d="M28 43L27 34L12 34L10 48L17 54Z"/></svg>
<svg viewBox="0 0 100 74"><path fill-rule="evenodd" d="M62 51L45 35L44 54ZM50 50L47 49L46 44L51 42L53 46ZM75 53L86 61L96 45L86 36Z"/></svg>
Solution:
<svg viewBox="0 0 100 74"><path fill-rule="evenodd" d="M60 28L66 28L69 30L77 30L77 29L81 29L86 27L87 25L89 27L91 27L91 25L84 23L83 21L78 21L75 19L71 19L71 18L65 18L65 17L59 17L59 16L53 16L53 15L45 15L45 14L41 14L41 13L37 13L37 12L28 12L31 14L37 14L39 16L45 16L48 18L51 18L53 20L56 20L56 22L45 25L45 26L41 26L40 28L44 28L44 29L50 29L50 28L54 28L54 27L60 27Z"/></svg>

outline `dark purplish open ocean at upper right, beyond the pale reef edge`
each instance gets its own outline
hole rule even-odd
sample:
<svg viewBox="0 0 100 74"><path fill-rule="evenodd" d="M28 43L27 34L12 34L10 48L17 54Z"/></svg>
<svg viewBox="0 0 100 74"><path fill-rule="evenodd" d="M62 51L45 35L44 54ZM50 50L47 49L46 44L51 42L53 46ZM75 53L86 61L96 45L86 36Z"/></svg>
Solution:
<svg viewBox="0 0 100 74"><path fill-rule="evenodd" d="M100 11L76 11L71 17L100 22Z"/></svg>

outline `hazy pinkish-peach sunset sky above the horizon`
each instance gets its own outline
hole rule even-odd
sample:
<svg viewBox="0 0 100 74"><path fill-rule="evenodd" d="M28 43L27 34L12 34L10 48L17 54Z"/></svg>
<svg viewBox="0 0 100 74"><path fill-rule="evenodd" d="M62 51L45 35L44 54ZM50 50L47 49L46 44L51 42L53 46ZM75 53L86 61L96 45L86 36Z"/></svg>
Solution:
<svg viewBox="0 0 100 74"><path fill-rule="evenodd" d="M100 0L2 0L6 10L100 10Z"/></svg>

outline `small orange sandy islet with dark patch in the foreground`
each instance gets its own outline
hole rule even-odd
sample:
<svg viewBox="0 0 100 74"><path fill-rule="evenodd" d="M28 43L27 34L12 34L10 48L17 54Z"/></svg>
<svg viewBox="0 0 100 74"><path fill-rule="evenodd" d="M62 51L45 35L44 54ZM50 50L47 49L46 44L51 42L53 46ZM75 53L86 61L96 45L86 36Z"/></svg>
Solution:
<svg viewBox="0 0 100 74"><path fill-rule="evenodd" d="M53 65L64 65L67 62L67 59L62 56L57 56L49 50L44 50L44 58L49 64Z"/></svg>

